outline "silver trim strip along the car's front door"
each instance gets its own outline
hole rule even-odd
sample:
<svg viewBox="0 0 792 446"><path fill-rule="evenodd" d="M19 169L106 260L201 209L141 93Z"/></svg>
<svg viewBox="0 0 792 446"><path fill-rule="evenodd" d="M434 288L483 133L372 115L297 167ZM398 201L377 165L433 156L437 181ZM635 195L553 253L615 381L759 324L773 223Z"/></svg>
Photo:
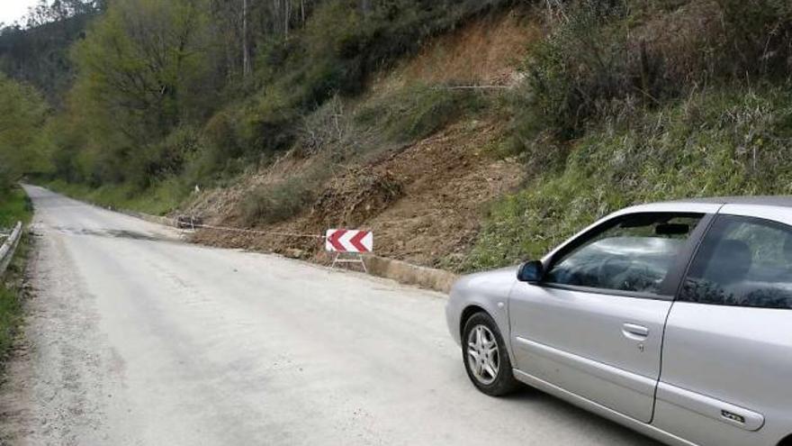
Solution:
<svg viewBox="0 0 792 446"><path fill-rule="evenodd" d="M654 398L654 389L657 386L657 381L655 379L646 378L643 375L628 372L625 369L619 369L596 360L590 360L563 350L554 349L553 347L535 341L529 341L520 336L515 336L515 341L517 341L519 348L527 350L537 356L561 362L566 366L579 369L591 376L616 384L619 387L626 387L642 395L652 396Z"/></svg>

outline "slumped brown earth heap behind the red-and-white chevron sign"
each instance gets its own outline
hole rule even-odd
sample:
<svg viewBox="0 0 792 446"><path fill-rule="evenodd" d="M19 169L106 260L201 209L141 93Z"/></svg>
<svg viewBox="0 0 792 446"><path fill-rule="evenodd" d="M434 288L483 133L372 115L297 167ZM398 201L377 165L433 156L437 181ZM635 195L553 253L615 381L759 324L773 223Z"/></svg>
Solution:
<svg viewBox="0 0 792 446"><path fill-rule="evenodd" d="M454 124L333 177L311 211L300 217L261 226L261 233L202 231L196 241L324 262L329 257L323 241L302 234L321 235L333 227L367 229L374 231L377 254L455 269L480 229L486 205L524 178L518 161L493 159L486 149L502 133L500 123ZM215 214L211 220L235 224L233 213Z"/></svg>

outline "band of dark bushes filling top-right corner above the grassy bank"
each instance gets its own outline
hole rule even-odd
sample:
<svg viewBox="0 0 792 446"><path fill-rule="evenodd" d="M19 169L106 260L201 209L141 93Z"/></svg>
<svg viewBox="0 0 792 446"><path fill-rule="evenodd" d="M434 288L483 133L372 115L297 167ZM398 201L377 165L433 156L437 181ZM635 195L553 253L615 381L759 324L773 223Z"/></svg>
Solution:
<svg viewBox="0 0 792 446"><path fill-rule="evenodd" d="M531 156L536 137L572 140L590 124L641 116L702 85L779 80L792 68L786 0L680 0L668 10L575 0L562 8L527 59L518 95L514 144Z"/></svg>

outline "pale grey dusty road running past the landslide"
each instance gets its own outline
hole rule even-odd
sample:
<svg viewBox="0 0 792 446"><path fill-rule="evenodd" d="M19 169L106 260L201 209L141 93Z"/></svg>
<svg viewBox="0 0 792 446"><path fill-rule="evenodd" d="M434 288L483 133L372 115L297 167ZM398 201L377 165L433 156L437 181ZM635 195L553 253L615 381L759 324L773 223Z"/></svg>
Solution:
<svg viewBox="0 0 792 446"><path fill-rule="evenodd" d="M656 444L536 391L476 392L441 295L28 192L11 444Z"/></svg>

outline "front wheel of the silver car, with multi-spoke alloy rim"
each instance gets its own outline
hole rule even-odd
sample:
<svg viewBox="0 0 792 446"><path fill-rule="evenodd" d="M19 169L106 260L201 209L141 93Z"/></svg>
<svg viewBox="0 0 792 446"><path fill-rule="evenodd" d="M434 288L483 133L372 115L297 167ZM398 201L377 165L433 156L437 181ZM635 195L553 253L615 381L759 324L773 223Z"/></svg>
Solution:
<svg viewBox="0 0 792 446"><path fill-rule="evenodd" d="M489 396L504 396L519 387L506 344L489 314L473 314L464 323L462 340L464 369L475 387Z"/></svg>

